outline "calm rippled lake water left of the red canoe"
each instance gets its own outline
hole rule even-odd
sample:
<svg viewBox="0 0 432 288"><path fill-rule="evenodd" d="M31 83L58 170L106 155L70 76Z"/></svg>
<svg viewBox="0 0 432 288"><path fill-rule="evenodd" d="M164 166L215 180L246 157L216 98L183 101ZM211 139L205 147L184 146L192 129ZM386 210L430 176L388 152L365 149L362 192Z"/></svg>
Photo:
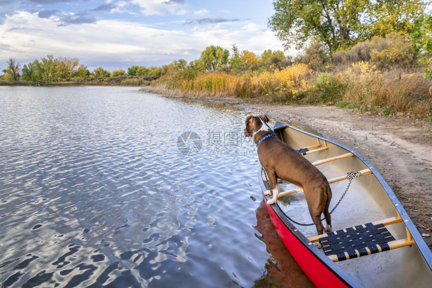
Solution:
<svg viewBox="0 0 432 288"><path fill-rule="evenodd" d="M247 115L0 87L0 286L309 286L262 202Z"/></svg>

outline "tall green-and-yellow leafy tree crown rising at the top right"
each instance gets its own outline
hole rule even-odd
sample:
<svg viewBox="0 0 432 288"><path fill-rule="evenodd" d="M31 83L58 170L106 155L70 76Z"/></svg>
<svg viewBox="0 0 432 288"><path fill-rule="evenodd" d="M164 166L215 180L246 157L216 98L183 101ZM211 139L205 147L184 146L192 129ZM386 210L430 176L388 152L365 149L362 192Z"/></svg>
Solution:
<svg viewBox="0 0 432 288"><path fill-rule="evenodd" d="M275 0L268 25L297 49L324 43L330 53L390 32L410 33L428 0Z"/></svg>

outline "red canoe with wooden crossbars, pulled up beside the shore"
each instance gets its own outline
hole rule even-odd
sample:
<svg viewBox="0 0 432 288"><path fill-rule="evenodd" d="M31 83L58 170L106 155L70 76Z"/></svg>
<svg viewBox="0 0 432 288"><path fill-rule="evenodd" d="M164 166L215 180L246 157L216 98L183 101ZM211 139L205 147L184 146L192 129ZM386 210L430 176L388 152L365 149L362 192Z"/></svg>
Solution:
<svg viewBox="0 0 432 288"><path fill-rule="evenodd" d="M432 253L370 163L353 150L291 125L277 121L273 130L315 165L332 188L330 210L337 207L333 231L326 234L316 235L314 225L303 226L312 220L303 193L293 184L279 180L277 204L267 205L279 237L317 287L432 287ZM262 168L259 180L267 202Z"/></svg>

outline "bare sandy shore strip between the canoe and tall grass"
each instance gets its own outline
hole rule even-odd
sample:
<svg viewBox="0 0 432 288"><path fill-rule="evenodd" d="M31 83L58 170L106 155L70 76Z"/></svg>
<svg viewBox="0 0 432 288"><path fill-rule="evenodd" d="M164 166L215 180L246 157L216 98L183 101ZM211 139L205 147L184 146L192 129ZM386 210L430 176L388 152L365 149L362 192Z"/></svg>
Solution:
<svg viewBox="0 0 432 288"><path fill-rule="evenodd" d="M149 89L150 88L150 89ZM383 176L432 250L432 124L409 117L385 117L336 106L265 103L263 98L185 96L156 87L140 91L268 113L312 127L357 151ZM268 101L268 100L267 100Z"/></svg>

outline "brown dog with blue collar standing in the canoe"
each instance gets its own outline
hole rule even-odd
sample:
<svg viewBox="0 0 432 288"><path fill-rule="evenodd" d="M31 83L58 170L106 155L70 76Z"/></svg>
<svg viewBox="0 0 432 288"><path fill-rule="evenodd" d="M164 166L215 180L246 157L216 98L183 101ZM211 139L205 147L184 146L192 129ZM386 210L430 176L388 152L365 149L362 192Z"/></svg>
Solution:
<svg viewBox="0 0 432 288"><path fill-rule="evenodd" d="M321 214L324 213L327 227L324 231L332 231L329 213L332 190L326 177L307 159L301 156L289 145L274 136L273 130L267 125L266 115L248 116L246 118L245 136L253 137L258 146L258 159L267 173L271 191L265 195L273 194L267 204L275 204L277 200L277 179L286 180L296 185L299 191L304 192L310 216L316 226L316 231L322 234L324 226Z"/></svg>

